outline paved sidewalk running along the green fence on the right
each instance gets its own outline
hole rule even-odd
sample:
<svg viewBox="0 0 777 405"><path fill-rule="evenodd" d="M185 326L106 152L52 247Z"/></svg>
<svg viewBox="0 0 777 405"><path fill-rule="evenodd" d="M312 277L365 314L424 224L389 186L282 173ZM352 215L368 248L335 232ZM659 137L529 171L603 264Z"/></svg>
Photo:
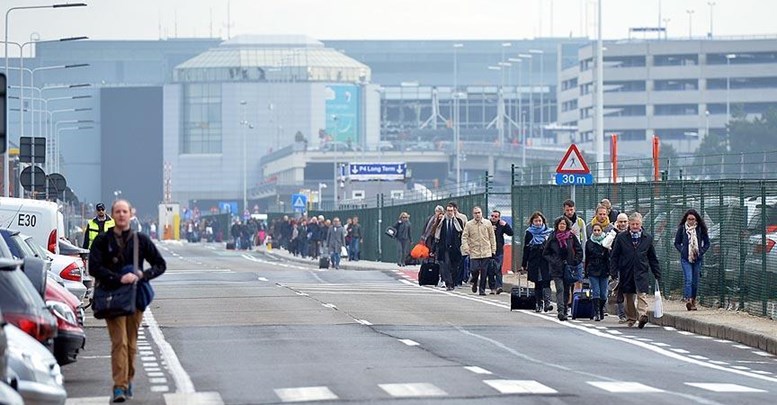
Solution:
<svg viewBox="0 0 777 405"><path fill-rule="evenodd" d="M289 254L285 250L272 249L266 251L279 259L292 260L301 263L316 265L310 258L300 258ZM340 262L343 270L400 270L413 279L417 279L419 266L398 267L394 263L372 262L360 260ZM504 275L504 290L510 291L518 281L515 274ZM699 307L698 311L688 311L685 304L676 300L664 299L664 316L655 318L649 311L650 323L661 326L671 326L677 330L688 331L698 335L711 336L717 339L727 339L758 348L765 352L777 355L777 321L768 318L752 316L744 312L726 311Z"/></svg>

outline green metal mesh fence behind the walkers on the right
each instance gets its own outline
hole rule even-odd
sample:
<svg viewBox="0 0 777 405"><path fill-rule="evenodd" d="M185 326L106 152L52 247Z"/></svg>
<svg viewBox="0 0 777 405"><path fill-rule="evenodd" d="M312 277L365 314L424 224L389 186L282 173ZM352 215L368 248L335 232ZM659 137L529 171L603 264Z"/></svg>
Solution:
<svg viewBox="0 0 777 405"><path fill-rule="evenodd" d="M665 296L682 297L683 275L674 236L687 209L709 228L699 300L703 305L745 310L777 319L777 180L662 181L577 187L577 212L585 220L608 198L621 212L640 212L654 236ZM552 222L561 215L571 187L515 186L512 191L513 268L520 263L523 232L534 211ZM518 236L520 235L520 237Z"/></svg>

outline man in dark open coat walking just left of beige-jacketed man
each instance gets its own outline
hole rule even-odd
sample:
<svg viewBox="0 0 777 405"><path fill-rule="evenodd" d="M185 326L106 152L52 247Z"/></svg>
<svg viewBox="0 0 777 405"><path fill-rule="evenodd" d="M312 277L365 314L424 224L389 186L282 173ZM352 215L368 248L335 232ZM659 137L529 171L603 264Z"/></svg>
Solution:
<svg viewBox="0 0 777 405"><path fill-rule="evenodd" d="M440 276L448 291L453 291L455 280L459 277L461 263L461 232L464 223L456 218L456 211L451 203L445 207L445 216L435 232L437 251L435 257L440 264Z"/></svg>

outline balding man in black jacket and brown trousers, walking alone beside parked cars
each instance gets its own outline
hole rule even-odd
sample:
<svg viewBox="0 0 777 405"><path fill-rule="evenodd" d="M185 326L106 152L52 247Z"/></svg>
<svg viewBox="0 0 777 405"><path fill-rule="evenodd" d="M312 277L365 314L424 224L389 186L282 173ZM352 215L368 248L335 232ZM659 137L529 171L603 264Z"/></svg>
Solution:
<svg viewBox="0 0 777 405"><path fill-rule="evenodd" d="M116 200L111 217L116 222L112 231L99 235L89 251L89 274L99 288L116 289L122 284L148 282L167 269L162 255L151 239L130 230L131 206L126 200ZM138 261L134 263L134 246L138 244ZM143 270L143 261L151 267ZM138 297L141 296L138 288ZM145 305L150 302L146 302ZM131 315L106 319L111 337L111 368L113 370L113 402L124 402L133 396L135 355L138 350L138 327L146 309L138 302Z"/></svg>

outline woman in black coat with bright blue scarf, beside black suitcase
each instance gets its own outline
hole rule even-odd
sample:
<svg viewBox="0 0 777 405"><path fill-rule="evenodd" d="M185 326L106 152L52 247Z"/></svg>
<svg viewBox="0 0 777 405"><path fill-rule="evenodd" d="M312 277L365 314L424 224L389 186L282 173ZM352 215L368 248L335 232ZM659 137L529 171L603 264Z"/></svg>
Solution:
<svg viewBox="0 0 777 405"><path fill-rule="evenodd" d="M542 257L542 248L548 240L552 229L548 228L545 216L535 211L529 218L529 227L523 238L523 261L521 270L528 274L529 281L534 283L534 298L537 300L535 312L553 310L550 304L550 270L548 262Z"/></svg>

